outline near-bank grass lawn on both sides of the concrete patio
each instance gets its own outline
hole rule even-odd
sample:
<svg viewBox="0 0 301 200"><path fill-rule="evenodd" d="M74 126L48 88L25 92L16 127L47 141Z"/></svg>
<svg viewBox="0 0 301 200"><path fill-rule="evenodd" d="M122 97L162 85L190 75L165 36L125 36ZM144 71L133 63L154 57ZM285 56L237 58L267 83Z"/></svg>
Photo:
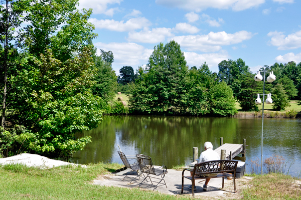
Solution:
<svg viewBox="0 0 301 200"><path fill-rule="evenodd" d="M121 167L116 163L50 169L21 164L0 166L0 199L192 199L139 188L91 184L97 176ZM243 199L301 199L300 183L300 179L283 174L255 175L248 183L250 186L241 188L241 194ZM208 197L198 196L198 199Z"/></svg>

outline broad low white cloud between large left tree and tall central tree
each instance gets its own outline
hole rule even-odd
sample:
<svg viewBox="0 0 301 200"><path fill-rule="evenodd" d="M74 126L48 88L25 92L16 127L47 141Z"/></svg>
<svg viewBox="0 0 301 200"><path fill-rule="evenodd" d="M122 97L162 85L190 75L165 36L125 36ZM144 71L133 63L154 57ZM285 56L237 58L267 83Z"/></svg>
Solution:
<svg viewBox="0 0 301 200"><path fill-rule="evenodd" d="M114 62L112 67L117 74L123 66L131 66L136 69L137 66L147 64L149 56L154 51L135 43L95 43L94 46L97 47L98 55L100 54L99 49L113 52Z"/></svg>

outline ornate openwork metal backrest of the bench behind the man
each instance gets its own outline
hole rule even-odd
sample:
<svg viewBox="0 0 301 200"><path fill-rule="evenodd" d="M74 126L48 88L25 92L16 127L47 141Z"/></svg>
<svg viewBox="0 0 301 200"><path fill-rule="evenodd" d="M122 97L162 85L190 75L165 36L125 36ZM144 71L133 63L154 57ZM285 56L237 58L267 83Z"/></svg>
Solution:
<svg viewBox="0 0 301 200"><path fill-rule="evenodd" d="M235 172L238 161L212 160L195 164L193 175L206 173Z"/></svg>

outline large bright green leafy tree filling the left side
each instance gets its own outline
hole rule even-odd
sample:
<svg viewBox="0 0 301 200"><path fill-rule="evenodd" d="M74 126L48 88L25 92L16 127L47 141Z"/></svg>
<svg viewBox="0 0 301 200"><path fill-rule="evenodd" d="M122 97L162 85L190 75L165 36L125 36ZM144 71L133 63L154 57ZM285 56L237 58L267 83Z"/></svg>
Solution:
<svg viewBox="0 0 301 200"><path fill-rule="evenodd" d="M91 93L97 71L91 60L91 40L96 37L88 23L91 10L79 12L76 0L33 0L23 8L24 2L11 4L20 3L16 9L28 23L22 29L16 24L19 31L12 41L18 49L8 54L11 61L19 60L11 68L7 100L12 115L5 118L10 126L1 130L0 150L6 146L2 153L8 156L23 147L21 151L68 158L91 142L74 134L94 128L105 106ZM11 140L2 143L6 138Z"/></svg>

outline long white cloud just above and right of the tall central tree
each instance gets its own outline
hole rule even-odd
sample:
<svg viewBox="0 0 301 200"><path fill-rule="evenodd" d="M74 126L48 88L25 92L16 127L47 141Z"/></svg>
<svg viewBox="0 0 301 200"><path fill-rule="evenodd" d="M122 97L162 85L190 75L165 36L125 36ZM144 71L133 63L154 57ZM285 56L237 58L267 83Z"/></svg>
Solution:
<svg viewBox="0 0 301 200"><path fill-rule="evenodd" d="M176 36L172 38L178 42L182 48L188 51L216 52L225 45L241 43L244 40L249 40L253 34L247 31L240 31L234 34L226 32L210 32L207 35L196 36Z"/></svg>

